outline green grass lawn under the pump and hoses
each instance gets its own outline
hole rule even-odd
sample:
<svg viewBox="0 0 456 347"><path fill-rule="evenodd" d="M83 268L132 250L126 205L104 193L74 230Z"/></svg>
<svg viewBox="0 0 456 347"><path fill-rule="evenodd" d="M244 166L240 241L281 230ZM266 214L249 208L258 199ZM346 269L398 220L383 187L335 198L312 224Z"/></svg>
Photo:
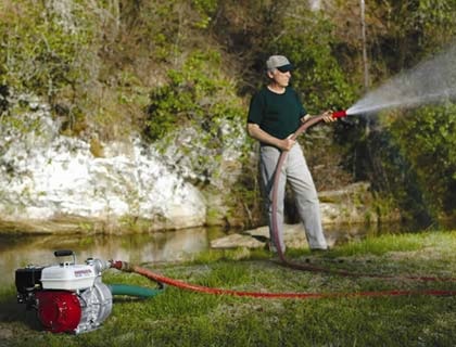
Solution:
<svg viewBox="0 0 456 347"><path fill-rule="evenodd" d="M341 245L327 254L292 249L294 262L352 272L456 278L456 231L394 234ZM339 277L291 270L264 250L208 252L189 264L151 267L200 285L239 291L353 293L455 290L452 282ZM143 265L148 267L148 265ZM109 270L105 283L153 286ZM0 292L1 346L454 346L456 296L255 299L168 286L153 298L115 297L103 326L80 335L41 331L31 311Z"/></svg>

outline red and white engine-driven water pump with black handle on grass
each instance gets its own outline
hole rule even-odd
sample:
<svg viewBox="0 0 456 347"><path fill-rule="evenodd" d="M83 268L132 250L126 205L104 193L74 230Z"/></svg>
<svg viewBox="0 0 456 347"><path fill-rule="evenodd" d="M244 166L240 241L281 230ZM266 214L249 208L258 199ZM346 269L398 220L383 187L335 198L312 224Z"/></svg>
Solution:
<svg viewBox="0 0 456 347"><path fill-rule="evenodd" d="M54 255L72 256L73 261L16 270L17 303L36 310L42 326L53 333L79 334L99 327L112 310L111 290L101 281L110 264L88 258L77 265L72 250Z"/></svg>

